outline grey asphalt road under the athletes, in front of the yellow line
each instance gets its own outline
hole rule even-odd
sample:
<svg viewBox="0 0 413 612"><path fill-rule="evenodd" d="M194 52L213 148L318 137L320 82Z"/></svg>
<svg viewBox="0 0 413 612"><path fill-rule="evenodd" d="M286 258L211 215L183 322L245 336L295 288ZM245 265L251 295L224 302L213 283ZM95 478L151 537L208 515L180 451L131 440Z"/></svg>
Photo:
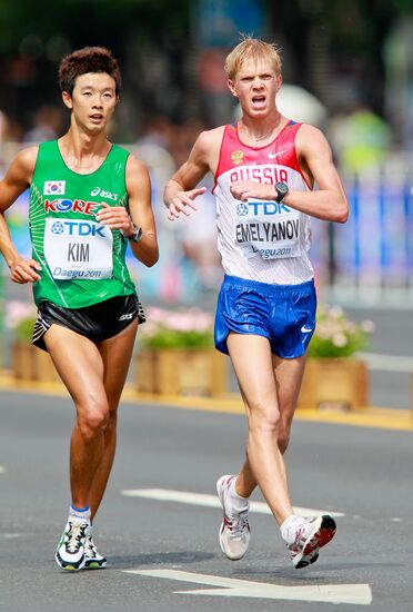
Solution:
<svg viewBox="0 0 413 612"><path fill-rule="evenodd" d="M110 565L72 574L53 559L70 503L71 404L3 392L0 415L0 610L319 612L338 608L294 598L345 584L365 585L364 598L371 590L363 609L411 609L412 433L294 424L288 455L294 504L344 514L319 562L299 571L269 515L251 514L248 555L230 562L218 544L219 510L121 494L161 488L214 496L216 478L242 460L243 416L124 404L117 461L94 525ZM238 591L228 579L242 581L231 583ZM194 594L220 584L225 589L216 594ZM280 586L293 599L269 599L283 596ZM338 586L331 589L334 595Z"/></svg>

